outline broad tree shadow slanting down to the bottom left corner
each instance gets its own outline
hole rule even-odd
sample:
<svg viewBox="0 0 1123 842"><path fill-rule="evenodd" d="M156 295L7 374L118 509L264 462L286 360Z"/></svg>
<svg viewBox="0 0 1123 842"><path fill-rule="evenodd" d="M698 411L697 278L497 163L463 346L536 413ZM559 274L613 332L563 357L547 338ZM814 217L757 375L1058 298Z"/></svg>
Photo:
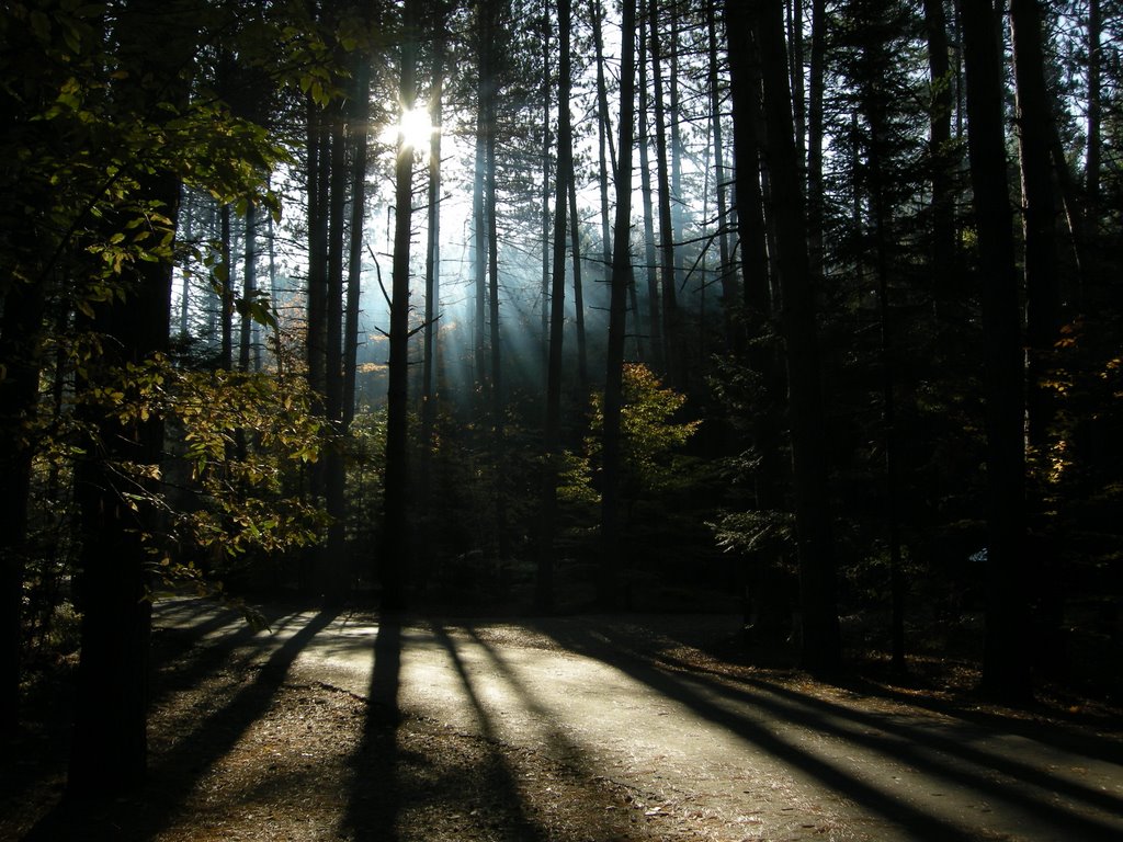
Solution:
<svg viewBox="0 0 1123 842"><path fill-rule="evenodd" d="M265 713L301 650L336 614L322 611L309 620L262 663L255 678L227 704L199 720L190 733L182 735L162 753L152 765L144 791L135 802L109 805L63 802L44 816L25 839L35 842L117 840L122 838L122 823L129 826L128 835L133 839L156 836L168 826L176 808L206 772ZM244 637L244 632L234 635L235 640ZM227 653L232 651L228 647L219 649ZM124 822L122 811L128 812Z"/></svg>

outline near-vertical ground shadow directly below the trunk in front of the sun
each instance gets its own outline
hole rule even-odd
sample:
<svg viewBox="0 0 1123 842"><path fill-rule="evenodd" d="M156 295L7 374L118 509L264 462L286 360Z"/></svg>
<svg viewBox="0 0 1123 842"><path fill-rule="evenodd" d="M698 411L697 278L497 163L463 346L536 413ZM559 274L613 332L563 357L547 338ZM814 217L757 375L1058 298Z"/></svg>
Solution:
<svg viewBox="0 0 1123 842"><path fill-rule="evenodd" d="M378 623L367 692L363 739L354 759L344 826L357 842L396 842L403 793L399 780L398 695L402 669L402 626L387 615Z"/></svg>

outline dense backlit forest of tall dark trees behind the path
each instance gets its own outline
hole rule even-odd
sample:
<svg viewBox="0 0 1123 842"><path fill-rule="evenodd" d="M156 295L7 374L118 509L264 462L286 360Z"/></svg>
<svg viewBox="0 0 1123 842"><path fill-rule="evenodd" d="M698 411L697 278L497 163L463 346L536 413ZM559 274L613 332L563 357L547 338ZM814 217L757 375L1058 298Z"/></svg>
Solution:
<svg viewBox="0 0 1123 842"><path fill-rule="evenodd" d="M13 0L0 45L0 722L73 672L69 793L144 779L165 595L715 611L1119 699L1123 4Z"/></svg>

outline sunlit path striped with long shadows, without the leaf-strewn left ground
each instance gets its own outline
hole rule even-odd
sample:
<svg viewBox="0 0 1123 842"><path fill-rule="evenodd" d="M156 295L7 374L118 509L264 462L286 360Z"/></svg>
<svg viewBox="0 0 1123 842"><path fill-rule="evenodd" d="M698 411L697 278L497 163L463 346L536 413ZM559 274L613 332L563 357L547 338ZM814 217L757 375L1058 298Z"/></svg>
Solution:
<svg viewBox="0 0 1123 842"><path fill-rule="evenodd" d="M272 676L275 690L357 706L343 731L359 733L334 739L373 766L351 762L350 793L329 808L347 814L331 820L331 839L1123 839L1117 732L995 729L751 670L724 675L691 644L732 622L380 625L293 614L250 635L194 603L158 612L170 631L198 629L228 663ZM283 720L262 705L255 722ZM464 768L426 782L457 751ZM428 798L409 791L430 785ZM456 787L463 803L433 811ZM377 807L357 809L365 798ZM427 805L423 821L453 825L418 827Z"/></svg>

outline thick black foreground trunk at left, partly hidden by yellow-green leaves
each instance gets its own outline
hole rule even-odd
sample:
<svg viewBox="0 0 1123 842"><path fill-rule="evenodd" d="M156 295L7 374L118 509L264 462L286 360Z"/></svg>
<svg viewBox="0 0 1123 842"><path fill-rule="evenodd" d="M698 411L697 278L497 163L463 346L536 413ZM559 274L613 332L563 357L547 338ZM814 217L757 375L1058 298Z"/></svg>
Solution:
<svg viewBox="0 0 1123 842"><path fill-rule="evenodd" d="M136 113L156 112L152 91L161 92L162 102L185 103L182 73L194 53L191 18L181 4L154 0L130 0L126 11L115 31L118 66L128 71L118 82L117 101ZM149 82L140 84L143 79ZM140 179L137 194L162 203L174 232L179 179L157 170ZM95 305L90 319L90 329L110 341L75 384L81 394L108 385L119 366L144 363L167 349L172 266L137 262L119 281L125 300ZM157 415L126 423L112 409L91 406L90 414L99 434L89 442L75 483L85 540L79 573L82 655L67 779L72 797L116 795L145 776L152 604L144 536L159 529L159 511L152 502L125 495L117 466L131 463L155 472L164 445Z"/></svg>

